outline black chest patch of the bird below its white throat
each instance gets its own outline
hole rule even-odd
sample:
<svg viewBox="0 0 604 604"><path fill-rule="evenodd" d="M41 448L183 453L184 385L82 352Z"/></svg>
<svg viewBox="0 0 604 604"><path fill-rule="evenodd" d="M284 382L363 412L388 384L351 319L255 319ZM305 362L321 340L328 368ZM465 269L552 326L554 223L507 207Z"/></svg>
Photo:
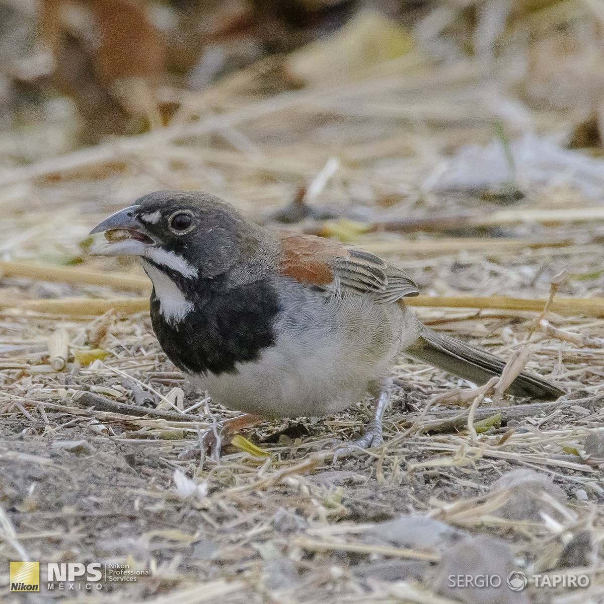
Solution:
<svg viewBox="0 0 604 604"><path fill-rule="evenodd" d="M226 289L222 278L198 281L188 299L193 310L168 323L151 295L151 322L162 350L176 367L191 373L236 372L236 363L254 361L275 344L278 295L268 279Z"/></svg>

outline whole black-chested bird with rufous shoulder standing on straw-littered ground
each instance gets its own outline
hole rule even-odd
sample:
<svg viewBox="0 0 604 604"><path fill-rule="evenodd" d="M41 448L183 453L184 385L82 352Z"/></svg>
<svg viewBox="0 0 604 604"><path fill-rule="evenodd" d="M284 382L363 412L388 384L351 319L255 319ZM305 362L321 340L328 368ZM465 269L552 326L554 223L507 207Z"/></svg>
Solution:
<svg viewBox="0 0 604 604"><path fill-rule="evenodd" d="M199 191L155 191L117 211L101 255L137 258L150 278L150 317L165 355L215 402L262 420L339 413L367 394L371 420L347 454L379 446L401 354L475 384L503 359L422 324L405 305L419 289L394 263L352 245L245 219ZM522 372L515 396L564 390Z"/></svg>

